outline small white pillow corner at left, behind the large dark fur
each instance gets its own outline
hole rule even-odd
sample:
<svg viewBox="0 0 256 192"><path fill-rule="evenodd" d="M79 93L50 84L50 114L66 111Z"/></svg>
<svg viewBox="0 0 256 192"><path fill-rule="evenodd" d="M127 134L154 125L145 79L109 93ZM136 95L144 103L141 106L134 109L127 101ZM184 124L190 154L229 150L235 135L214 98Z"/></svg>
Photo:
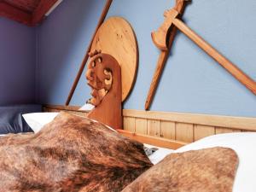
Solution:
<svg viewBox="0 0 256 192"><path fill-rule="evenodd" d="M26 123L32 128L32 131L37 133L42 129L42 127L48 124L50 121L55 119L58 113L25 113L22 114L23 118L26 120Z"/></svg>

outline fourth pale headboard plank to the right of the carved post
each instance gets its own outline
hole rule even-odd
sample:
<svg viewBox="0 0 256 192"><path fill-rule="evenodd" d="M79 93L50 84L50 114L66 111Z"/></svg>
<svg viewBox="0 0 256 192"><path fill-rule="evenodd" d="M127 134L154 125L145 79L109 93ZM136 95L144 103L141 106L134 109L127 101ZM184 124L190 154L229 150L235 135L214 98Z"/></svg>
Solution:
<svg viewBox="0 0 256 192"><path fill-rule="evenodd" d="M175 139L176 125L171 121L160 121L160 137Z"/></svg>

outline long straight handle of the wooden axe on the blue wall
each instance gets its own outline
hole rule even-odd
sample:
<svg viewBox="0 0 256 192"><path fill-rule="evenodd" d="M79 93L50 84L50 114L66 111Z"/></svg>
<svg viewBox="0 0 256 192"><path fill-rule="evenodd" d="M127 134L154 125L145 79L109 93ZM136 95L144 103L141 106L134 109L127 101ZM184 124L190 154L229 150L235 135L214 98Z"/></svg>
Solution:
<svg viewBox="0 0 256 192"><path fill-rule="evenodd" d="M208 55L210 55L215 61L217 61L222 67L224 67L229 73L231 73L237 80L244 84L247 89L251 90L253 94L256 95L256 82L243 73L241 69L236 67L231 61L218 53L217 49L214 49L210 44L208 44L203 38L193 32L189 26L186 26L182 20L174 19L172 20L174 26L188 36L195 44L197 44L201 49L203 49Z"/></svg>

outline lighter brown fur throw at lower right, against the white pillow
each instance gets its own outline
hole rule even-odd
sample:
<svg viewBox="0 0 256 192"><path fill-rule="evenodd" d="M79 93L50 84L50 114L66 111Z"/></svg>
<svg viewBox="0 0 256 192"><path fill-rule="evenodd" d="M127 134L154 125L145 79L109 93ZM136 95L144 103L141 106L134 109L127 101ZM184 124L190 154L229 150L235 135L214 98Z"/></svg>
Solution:
<svg viewBox="0 0 256 192"><path fill-rule="evenodd" d="M122 192L231 192L237 164L230 148L169 154Z"/></svg>

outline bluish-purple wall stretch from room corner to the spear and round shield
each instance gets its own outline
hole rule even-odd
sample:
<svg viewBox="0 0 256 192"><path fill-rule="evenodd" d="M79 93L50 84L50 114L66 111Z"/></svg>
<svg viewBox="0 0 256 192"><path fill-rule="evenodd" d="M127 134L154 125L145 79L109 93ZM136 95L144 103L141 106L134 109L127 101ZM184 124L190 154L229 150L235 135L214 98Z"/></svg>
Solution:
<svg viewBox="0 0 256 192"><path fill-rule="evenodd" d="M38 27L38 102L66 102L103 6L104 1L63 1ZM88 98L83 74L71 104L83 105Z"/></svg>

